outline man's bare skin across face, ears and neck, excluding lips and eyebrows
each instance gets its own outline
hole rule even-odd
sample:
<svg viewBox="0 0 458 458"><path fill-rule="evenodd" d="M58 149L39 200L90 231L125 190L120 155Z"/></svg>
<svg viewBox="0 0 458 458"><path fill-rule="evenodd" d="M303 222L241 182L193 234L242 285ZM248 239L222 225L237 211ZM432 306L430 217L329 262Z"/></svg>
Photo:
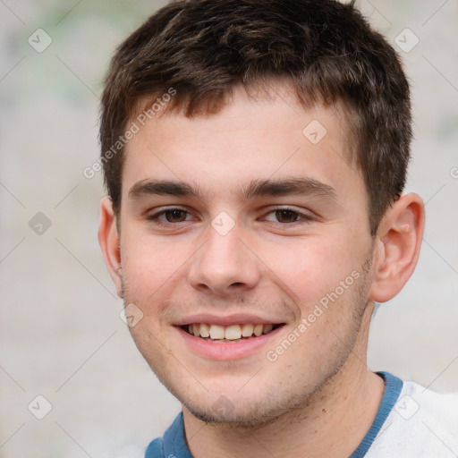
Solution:
<svg viewBox="0 0 458 458"><path fill-rule="evenodd" d="M302 133L313 120L327 129L317 144ZM338 106L305 109L280 82L271 98L236 89L211 116L166 112L126 146L121 230L111 200L103 199L99 242L125 304L143 313L131 334L181 401L198 458L344 457L375 418L384 385L366 366L370 317L374 301L394 297L411 276L424 212L419 196L404 195L371 237L350 146ZM287 178L324 183L333 196L239 196L253 180ZM130 195L151 179L186 182L201 195ZM276 213L286 207L306 218ZM172 208L188 213L168 213L172 222L162 215L163 225L148 219ZM211 225L223 211L234 223L225 235ZM352 272L358 279L267 360ZM194 352L174 326L191 313L239 312L284 326L259 351L234 360Z"/></svg>

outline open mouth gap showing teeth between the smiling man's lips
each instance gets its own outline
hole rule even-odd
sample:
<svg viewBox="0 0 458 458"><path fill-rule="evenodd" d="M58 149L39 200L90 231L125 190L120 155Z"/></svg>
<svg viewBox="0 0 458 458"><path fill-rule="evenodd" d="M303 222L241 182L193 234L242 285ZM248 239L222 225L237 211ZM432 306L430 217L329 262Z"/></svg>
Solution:
<svg viewBox="0 0 458 458"><path fill-rule="evenodd" d="M274 331L277 327L284 324L266 324L266 325L208 325L207 323L192 323L191 325L182 326L182 329L190 335L200 337L210 342L240 342L266 335Z"/></svg>

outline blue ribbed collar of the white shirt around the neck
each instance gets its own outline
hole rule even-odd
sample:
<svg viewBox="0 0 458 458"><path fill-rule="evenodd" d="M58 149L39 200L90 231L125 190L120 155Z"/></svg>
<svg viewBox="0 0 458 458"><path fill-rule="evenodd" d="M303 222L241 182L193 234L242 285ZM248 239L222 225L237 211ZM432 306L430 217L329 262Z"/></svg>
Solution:
<svg viewBox="0 0 458 458"><path fill-rule="evenodd" d="M389 372L377 372L377 374L385 382L382 402L378 407L377 416L372 426L350 458L362 458L368 452L370 445L372 445L374 439L377 437L378 431L380 431L386 418L393 410L394 404L403 388L403 381L398 377L394 377ZM172 425L165 431L162 439L157 438L149 444L145 454L145 458L171 457L192 458L190 449L186 444L182 412L177 415Z"/></svg>

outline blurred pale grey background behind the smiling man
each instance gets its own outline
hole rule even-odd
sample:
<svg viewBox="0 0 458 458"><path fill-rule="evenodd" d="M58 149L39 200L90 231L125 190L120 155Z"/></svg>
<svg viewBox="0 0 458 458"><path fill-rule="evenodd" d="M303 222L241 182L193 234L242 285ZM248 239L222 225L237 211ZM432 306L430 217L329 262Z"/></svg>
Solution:
<svg viewBox="0 0 458 458"><path fill-rule="evenodd" d="M134 457L179 403L120 318L97 241L98 98L110 56L159 1L0 0L0 457ZM361 0L403 56L425 199L420 263L373 321L369 368L458 386L454 0ZM38 397L37 397L38 396ZM40 420L41 418L41 420Z"/></svg>

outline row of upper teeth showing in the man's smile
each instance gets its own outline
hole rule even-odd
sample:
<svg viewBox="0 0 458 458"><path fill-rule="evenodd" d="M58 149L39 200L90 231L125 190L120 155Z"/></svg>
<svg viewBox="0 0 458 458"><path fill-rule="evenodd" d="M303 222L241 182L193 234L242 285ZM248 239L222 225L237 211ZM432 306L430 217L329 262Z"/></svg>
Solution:
<svg viewBox="0 0 458 458"><path fill-rule="evenodd" d="M231 325L219 326L208 325L206 323L193 323L189 325L190 334L196 337L210 337L217 340L237 340L241 337L250 337L251 335L267 334L272 331L274 325Z"/></svg>

